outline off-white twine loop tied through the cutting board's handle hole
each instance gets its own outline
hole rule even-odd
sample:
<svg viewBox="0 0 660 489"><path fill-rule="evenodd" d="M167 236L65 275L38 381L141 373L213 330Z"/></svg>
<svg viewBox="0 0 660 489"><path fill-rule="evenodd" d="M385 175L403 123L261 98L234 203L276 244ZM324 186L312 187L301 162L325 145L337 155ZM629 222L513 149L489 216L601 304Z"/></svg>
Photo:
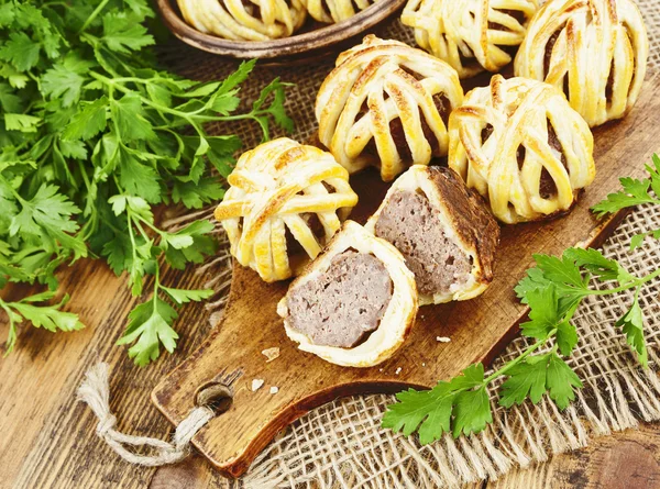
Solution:
<svg viewBox="0 0 660 489"><path fill-rule="evenodd" d="M87 370L85 380L77 391L78 400L89 405L98 418L97 435L120 457L135 465L157 467L184 459L189 453L193 436L216 415L211 404L218 397L221 397L226 402L231 400L231 390L226 386L209 386L207 394L202 394L206 389L200 391L197 396L199 405L194 408L176 427L172 443L148 436L127 435L114 429L117 416L110 411L108 370L108 364L105 362L100 362ZM200 402L201 400L205 402ZM155 453L153 455L141 455L134 452L139 447L151 447L155 449Z"/></svg>

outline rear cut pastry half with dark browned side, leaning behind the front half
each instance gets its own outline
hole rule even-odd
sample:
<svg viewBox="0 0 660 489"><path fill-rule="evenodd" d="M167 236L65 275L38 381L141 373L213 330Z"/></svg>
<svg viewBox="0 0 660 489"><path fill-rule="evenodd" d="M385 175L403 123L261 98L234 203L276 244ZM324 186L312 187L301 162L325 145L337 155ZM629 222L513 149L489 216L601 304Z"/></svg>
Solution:
<svg viewBox="0 0 660 489"><path fill-rule="evenodd" d="M493 280L499 226L481 196L449 168L410 167L365 229L404 255L420 305L472 299Z"/></svg>

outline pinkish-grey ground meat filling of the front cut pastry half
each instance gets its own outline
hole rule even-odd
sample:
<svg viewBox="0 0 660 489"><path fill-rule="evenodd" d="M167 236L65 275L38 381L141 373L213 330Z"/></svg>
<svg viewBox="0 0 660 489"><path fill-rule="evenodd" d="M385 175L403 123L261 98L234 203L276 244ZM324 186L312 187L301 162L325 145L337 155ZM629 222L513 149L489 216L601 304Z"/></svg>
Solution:
<svg viewBox="0 0 660 489"><path fill-rule="evenodd" d="M350 348L378 327L392 292L380 259L349 251L336 256L324 274L289 292L288 324L315 345Z"/></svg>

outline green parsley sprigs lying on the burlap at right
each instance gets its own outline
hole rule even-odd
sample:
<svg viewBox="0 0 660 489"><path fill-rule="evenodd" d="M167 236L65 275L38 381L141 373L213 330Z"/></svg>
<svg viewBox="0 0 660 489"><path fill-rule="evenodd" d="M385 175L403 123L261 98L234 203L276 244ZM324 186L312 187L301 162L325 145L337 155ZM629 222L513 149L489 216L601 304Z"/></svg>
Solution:
<svg viewBox="0 0 660 489"><path fill-rule="evenodd" d="M660 204L660 158L647 166L649 178L622 178L623 190L607 196L593 208L600 216L640 203ZM660 237L660 230L634 236L631 247L647 235ZM420 443L439 440L444 433L454 437L479 433L493 422L487 388L504 378L499 404L510 408L527 399L537 403L548 394L565 409L575 399L582 382L565 358L578 344L573 314L588 296L609 296L635 290L632 304L616 322L639 363L647 367L644 314L638 301L641 286L660 276L660 269L635 277L622 265L597 249L569 248L561 257L535 255L536 267L515 288L522 303L529 305L529 321L520 325L522 336L534 343L517 358L485 376L484 366L474 364L449 381L439 381L430 390L409 389L399 392L398 402L387 407L383 426L402 431L406 436L417 432ZM591 287L592 282L612 287ZM541 351L542 353L539 353Z"/></svg>

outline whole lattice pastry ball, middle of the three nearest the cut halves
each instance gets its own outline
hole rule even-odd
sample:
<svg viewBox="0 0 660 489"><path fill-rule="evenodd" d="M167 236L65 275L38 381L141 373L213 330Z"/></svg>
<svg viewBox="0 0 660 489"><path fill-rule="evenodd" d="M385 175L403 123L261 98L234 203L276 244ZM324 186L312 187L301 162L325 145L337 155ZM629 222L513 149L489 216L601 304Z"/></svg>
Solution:
<svg viewBox="0 0 660 489"><path fill-rule="evenodd" d="M385 181L447 154L447 123L463 100L455 70L421 49L373 35L337 58L316 101L319 138L353 174Z"/></svg>

